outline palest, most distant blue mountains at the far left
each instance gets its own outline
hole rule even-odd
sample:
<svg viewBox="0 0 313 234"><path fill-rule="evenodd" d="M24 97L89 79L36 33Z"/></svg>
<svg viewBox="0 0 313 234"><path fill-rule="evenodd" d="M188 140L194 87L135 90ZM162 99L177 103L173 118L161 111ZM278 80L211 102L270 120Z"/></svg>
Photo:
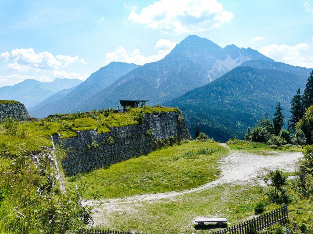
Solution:
<svg viewBox="0 0 313 234"><path fill-rule="evenodd" d="M69 89L81 83L78 79L55 79L51 82L40 82L38 80L24 80L15 85L0 88L1 100L16 100L25 105L26 108L37 105L59 90Z"/></svg>

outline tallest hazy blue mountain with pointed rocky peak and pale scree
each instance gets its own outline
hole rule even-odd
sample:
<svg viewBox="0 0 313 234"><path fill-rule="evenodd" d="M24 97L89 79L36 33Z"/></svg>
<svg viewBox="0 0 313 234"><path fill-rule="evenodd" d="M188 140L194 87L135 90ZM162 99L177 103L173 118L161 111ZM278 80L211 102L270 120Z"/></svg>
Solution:
<svg viewBox="0 0 313 234"><path fill-rule="evenodd" d="M119 99L162 103L208 84L248 60L273 61L251 48L225 48L195 35L186 37L164 59L129 72L80 106L80 110L117 107Z"/></svg>

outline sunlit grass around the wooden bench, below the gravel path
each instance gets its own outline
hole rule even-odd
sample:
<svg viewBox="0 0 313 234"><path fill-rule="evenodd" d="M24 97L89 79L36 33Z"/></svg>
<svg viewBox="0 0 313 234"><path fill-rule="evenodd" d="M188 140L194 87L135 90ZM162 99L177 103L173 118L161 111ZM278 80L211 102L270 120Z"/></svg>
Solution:
<svg viewBox="0 0 313 234"><path fill-rule="evenodd" d="M254 215L255 203L265 198L259 189L223 184L171 199L115 205L115 210L105 213L104 223L96 228L137 233L211 233L218 230L216 225L198 227L194 218L227 217L228 226L244 221Z"/></svg>

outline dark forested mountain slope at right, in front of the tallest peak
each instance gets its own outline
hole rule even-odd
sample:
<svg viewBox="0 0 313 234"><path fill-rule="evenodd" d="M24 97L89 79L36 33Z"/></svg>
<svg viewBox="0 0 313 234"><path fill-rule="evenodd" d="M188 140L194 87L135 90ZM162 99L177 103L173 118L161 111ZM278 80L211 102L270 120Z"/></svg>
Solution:
<svg viewBox="0 0 313 234"><path fill-rule="evenodd" d="M226 141L234 134L242 139L248 126L265 113L274 114L278 102L287 123L290 101L298 87L304 89L309 73L284 63L249 61L165 105L182 110L192 135L197 121L201 131L215 140Z"/></svg>

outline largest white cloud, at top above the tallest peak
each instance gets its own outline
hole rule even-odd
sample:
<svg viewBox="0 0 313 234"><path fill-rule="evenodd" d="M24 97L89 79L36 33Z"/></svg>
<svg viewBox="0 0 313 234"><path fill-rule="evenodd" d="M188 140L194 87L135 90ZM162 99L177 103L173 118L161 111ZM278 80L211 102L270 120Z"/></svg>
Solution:
<svg viewBox="0 0 313 234"><path fill-rule="evenodd" d="M128 20L162 33L202 32L218 28L232 18L233 14L223 10L217 0L160 0L142 8L139 14L133 7L128 16Z"/></svg>

